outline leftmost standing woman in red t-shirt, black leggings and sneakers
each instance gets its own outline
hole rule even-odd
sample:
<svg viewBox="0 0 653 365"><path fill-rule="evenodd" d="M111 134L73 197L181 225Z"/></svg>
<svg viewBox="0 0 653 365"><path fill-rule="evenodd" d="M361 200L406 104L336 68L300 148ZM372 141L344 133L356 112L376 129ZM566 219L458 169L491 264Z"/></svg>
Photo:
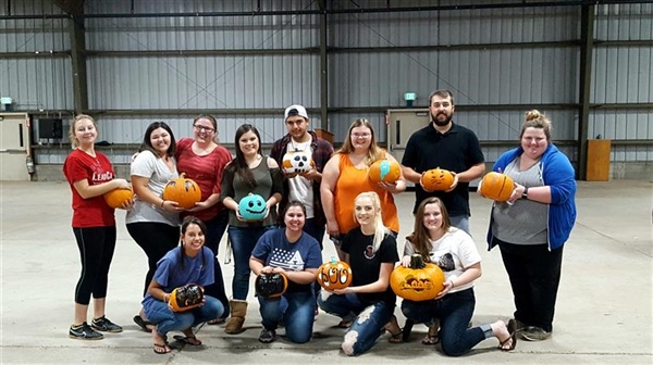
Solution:
<svg viewBox="0 0 653 365"><path fill-rule="evenodd" d="M98 130L93 117L77 115L71 124L74 148L63 163L63 174L73 193L73 232L79 248L82 274L75 287L75 318L69 336L81 340L100 340L102 333L120 332L122 327L104 316L109 267L115 249L115 217L102 194L113 189L131 188L127 180L114 178L106 155L95 151ZM123 209L130 209L132 201ZM86 323L90 295L94 319Z"/></svg>

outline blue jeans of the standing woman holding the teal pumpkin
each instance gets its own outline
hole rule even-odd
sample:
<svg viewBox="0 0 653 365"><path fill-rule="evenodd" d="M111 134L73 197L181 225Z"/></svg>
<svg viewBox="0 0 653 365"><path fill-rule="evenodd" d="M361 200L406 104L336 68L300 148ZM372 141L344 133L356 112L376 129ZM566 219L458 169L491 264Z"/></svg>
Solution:
<svg viewBox="0 0 653 365"><path fill-rule="evenodd" d="M249 293L249 257L259 238L269 229L267 227L234 227L229 226L226 234L232 242L234 253L234 279L232 280L232 295L235 300L247 300Z"/></svg>

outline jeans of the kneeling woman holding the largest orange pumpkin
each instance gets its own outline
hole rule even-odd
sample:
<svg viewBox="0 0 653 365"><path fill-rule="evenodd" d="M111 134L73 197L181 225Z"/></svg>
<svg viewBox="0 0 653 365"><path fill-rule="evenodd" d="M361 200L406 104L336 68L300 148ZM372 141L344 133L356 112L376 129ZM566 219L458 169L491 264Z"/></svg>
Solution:
<svg viewBox="0 0 653 365"><path fill-rule="evenodd" d="M404 300L402 312L415 323L431 324L440 319L442 352L449 356L466 354L485 339L480 327L467 328L473 315L473 289L446 294L439 300L414 302Z"/></svg>

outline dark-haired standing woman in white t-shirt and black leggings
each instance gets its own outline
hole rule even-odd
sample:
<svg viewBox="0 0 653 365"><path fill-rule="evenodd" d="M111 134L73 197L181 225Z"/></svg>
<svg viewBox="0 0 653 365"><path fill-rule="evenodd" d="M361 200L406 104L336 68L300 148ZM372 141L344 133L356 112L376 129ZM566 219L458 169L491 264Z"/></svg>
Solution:
<svg viewBox="0 0 653 365"><path fill-rule="evenodd" d="M165 184L178 177L174 152L175 140L170 126L153 122L145 130L143 143L132 161L134 209L127 212L125 222L130 236L147 255L144 295L157 270L157 262L174 249L180 239L180 212L183 209L176 202L161 198ZM134 322L145 331L151 331L153 327L143 309L134 316Z"/></svg>

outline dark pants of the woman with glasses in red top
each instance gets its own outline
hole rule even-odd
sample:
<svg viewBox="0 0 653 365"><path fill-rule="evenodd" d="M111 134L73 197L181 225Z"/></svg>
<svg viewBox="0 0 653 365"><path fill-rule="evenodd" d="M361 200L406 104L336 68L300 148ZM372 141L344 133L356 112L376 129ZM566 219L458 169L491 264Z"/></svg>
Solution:
<svg viewBox="0 0 653 365"><path fill-rule="evenodd" d="M222 267L220 266L220 261L218 260L218 252L220 247L220 240L222 240L222 236L224 236L224 231L226 230L226 225L229 223L229 210L223 209L218 213L218 215L205 222L207 225L207 236L205 238L205 246L208 247L211 252L213 252L213 272L214 272L214 281L211 285L205 287L205 293L207 295L211 295L218 299L222 306L224 306L224 313L222 313L222 317L229 317L229 299L226 298L226 292L224 290L224 277L222 276Z"/></svg>

